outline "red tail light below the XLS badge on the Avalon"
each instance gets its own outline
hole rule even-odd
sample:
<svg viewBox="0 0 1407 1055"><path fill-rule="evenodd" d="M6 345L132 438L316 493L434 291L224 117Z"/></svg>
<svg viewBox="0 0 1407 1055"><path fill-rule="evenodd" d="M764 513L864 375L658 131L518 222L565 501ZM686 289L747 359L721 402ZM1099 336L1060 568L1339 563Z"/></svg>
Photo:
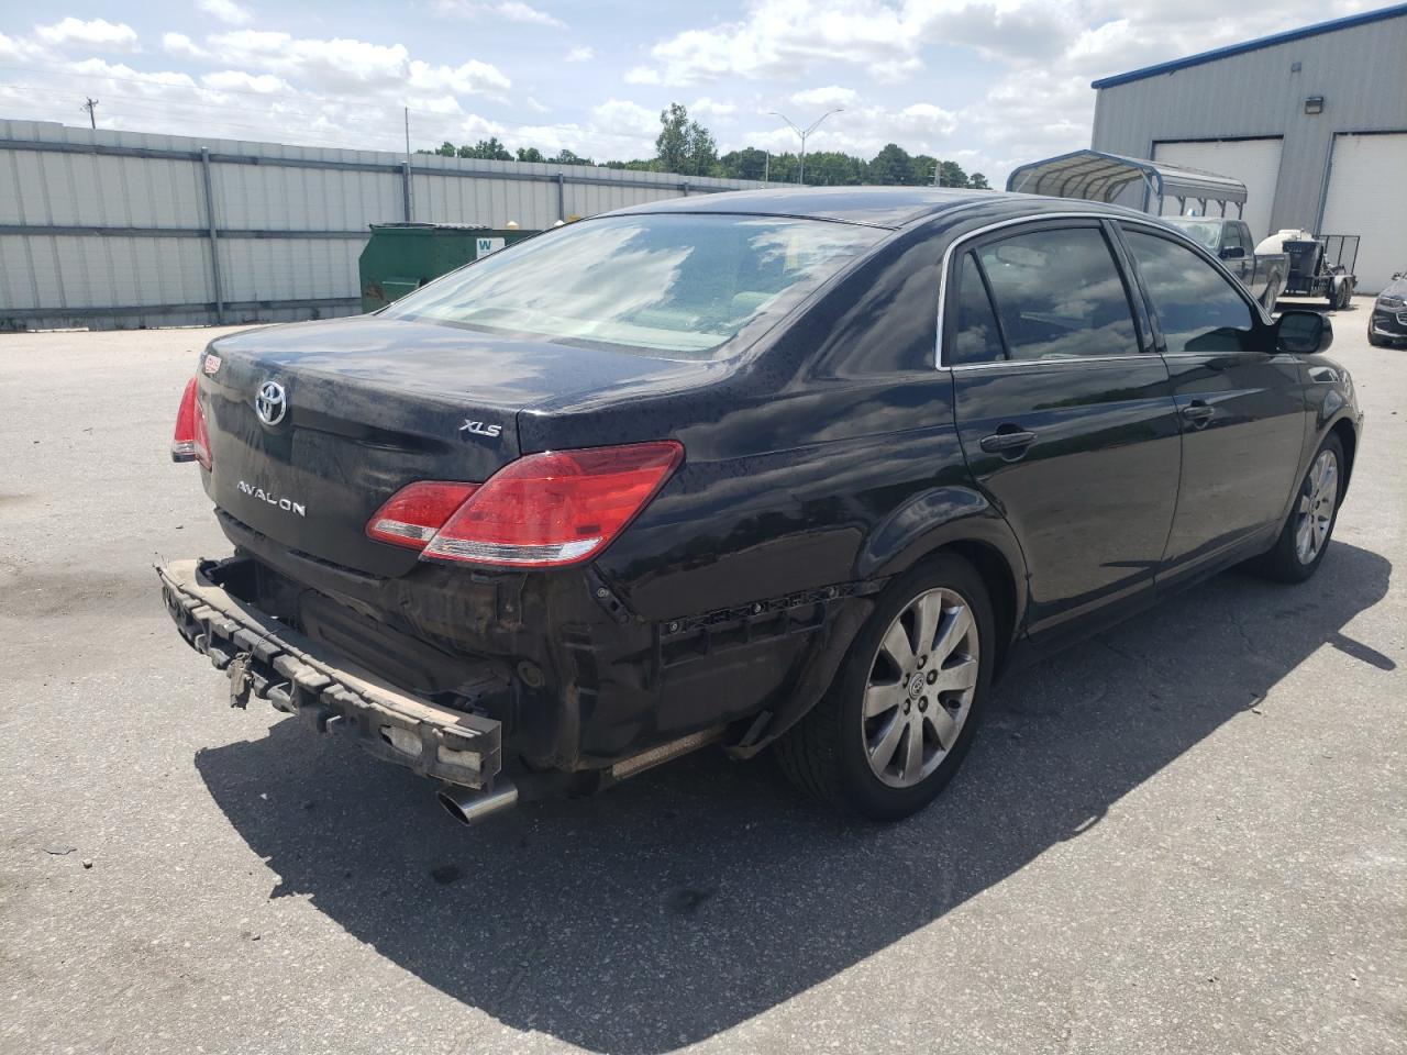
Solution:
<svg viewBox="0 0 1407 1055"><path fill-rule="evenodd" d="M422 560L537 568L577 564L609 546L682 459L684 446L675 440L529 454L477 488L411 484L377 511L367 533L400 546L424 546ZM466 498L452 508L449 488L456 487L466 490ZM397 528L384 528L387 522Z"/></svg>

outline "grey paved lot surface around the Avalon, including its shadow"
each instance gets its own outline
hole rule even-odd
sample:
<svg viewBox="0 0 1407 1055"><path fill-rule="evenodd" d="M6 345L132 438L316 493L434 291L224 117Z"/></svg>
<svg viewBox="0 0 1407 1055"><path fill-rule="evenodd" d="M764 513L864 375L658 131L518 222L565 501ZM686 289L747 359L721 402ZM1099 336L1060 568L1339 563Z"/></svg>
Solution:
<svg viewBox="0 0 1407 1055"><path fill-rule="evenodd" d="M1368 308L1320 575L1010 678L892 827L704 754L466 830L231 710L151 571L228 551L166 460L211 333L0 338L0 1049L1407 1051L1407 350Z"/></svg>

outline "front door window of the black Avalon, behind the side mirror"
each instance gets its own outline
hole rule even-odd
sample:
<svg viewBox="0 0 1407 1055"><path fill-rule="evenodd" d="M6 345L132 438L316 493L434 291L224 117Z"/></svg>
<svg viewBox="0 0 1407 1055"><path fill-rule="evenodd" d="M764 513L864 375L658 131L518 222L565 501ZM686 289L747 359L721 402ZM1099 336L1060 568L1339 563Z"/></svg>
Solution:
<svg viewBox="0 0 1407 1055"><path fill-rule="evenodd" d="M1251 308L1211 264L1166 238L1126 231L1168 354L1223 354L1249 347Z"/></svg>

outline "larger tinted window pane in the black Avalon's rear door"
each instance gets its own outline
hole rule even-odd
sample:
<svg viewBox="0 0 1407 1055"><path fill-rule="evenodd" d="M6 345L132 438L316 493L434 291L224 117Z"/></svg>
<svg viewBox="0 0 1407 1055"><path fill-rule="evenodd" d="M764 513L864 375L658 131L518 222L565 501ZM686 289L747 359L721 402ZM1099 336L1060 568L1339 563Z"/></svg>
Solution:
<svg viewBox="0 0 1407 1055"><path fill-rule="evenodd" d="M1012 359L1138 353L1123 279L1096 228L1030 231L976 255Z"/></svg>

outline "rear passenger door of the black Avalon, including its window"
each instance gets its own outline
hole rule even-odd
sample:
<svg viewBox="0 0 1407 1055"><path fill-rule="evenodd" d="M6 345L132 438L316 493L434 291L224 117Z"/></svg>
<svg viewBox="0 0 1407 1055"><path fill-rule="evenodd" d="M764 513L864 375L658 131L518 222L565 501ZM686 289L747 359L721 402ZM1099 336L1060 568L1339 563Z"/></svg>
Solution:
<svg viewBox="0 0 1407 1055"><path fill-rule="evenodd" d="M978 485L1030 571L1033 637L1151 589L1178 492L1168 369L1097 219L957 246L943 357Z"/></svg>

